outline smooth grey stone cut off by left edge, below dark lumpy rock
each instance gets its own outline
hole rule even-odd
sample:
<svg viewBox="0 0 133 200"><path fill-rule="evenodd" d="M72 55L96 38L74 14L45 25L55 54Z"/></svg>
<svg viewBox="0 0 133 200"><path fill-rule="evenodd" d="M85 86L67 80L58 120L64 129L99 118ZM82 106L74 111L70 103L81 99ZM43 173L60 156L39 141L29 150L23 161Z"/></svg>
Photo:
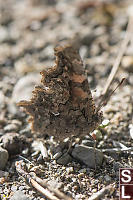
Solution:
<svg viewBox="0 0 133 200"><path fill-rule="evenodd" d="M0 170L4 169L8 160L8 152L0 147Z"/></svg>

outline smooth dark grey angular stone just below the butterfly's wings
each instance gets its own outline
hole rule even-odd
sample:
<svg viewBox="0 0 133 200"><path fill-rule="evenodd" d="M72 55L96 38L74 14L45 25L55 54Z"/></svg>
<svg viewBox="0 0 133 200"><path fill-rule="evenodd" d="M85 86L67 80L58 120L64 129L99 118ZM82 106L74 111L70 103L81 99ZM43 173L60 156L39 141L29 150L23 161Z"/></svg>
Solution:
<svg viewBox="0 0 133 200"><path fill-rule="evenodd" d="M96 165L101 166L103 162L103 153L95 149L96 152L94 152L93 147L87 147L83 145L79 145L75 147L72 151L72 156L79 160L80 162L83 162L86 164L89 168L95 168L95 155L96 155Z"/></svg>

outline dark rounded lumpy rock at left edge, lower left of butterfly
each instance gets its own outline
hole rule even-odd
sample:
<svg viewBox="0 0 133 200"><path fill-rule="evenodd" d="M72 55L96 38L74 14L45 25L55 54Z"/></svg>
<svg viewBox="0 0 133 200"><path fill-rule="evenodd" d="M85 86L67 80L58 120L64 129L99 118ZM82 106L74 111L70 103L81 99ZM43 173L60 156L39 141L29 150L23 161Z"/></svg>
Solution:
<svg viewBox="0 0 133 200"><path fill-rule="evenodd" d="M25 141L18 133L6 133L0 138L0 142L10 155L14 155L21 152Z"/></svg>

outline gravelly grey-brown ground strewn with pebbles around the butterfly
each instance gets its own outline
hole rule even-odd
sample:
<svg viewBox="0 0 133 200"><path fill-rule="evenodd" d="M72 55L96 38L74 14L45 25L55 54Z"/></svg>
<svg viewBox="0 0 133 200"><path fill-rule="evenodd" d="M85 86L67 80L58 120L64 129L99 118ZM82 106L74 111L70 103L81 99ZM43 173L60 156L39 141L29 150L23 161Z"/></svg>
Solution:
<svg viewBox="0 0 133 200"><path fill-rule="evenodd" d="M16 103L31 97L39 72L53 65L54 47L71 42L97 104L121 51L132 6L129 0L0 0L0 151L9 155L8 161L0 157L0 199L47 199L17 172L16 161L73 199L89 199L102 188L106 192L98 199L119 199L119 168L133 166L132 38L110 88L126 81L102 109L109 124L97 136L104 160L96 170L68 154L58 162L62 149L53 148L53 138L32 134L28 115ZM93 146L87 136L80 143Z"/></svg>

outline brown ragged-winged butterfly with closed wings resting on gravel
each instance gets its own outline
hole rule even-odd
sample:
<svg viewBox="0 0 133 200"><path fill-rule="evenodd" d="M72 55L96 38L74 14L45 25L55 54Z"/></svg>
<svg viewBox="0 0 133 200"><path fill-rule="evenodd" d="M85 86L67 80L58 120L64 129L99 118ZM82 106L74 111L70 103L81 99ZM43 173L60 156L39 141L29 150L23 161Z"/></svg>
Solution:
<svg viewBox="0 0 133 200"><path fill-rule="evenodd" d="M35 86L32 98L18 106L29 114L33 132L59 141L80 138L98 128L103 114L95 106L78 51L66 45L54 52L55 66L40 72L41 83Z"/></svg>

